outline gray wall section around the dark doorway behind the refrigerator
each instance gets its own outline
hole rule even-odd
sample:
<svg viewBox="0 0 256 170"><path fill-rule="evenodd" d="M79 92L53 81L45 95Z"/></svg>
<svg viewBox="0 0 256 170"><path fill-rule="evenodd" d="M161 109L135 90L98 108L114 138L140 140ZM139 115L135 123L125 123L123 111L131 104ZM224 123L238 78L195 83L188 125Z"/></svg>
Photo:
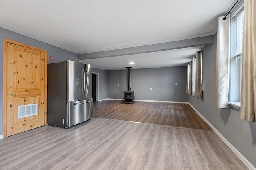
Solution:
<svg viewBox="0 0 256 170"><path fill-rule="evenodd" d="M101 70L98 68L93 68L92 66L92 72L98 73L99 78L99 100L106 99L107 98L107 71Z"/></svg>

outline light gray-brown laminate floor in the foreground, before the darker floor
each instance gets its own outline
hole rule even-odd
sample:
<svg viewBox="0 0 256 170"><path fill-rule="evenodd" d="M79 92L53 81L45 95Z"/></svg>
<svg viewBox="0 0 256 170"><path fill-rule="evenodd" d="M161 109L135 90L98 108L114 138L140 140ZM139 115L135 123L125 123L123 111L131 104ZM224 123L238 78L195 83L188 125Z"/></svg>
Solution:
<svg viewBox="0 0 256 170"><path fill-rule="evenodd" d="M0 140L1 170L246 170L214 131L106 118Z"/></svg>

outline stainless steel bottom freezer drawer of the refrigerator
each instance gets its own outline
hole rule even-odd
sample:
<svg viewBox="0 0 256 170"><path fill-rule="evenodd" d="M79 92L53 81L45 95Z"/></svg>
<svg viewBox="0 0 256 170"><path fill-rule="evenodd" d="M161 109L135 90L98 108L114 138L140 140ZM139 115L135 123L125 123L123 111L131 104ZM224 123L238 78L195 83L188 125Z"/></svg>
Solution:
<svg viewBox="0 0 256 170"><path fill-rule="evenodd" d="M67 127L92 118L92 99L67 102Z"/></svg>

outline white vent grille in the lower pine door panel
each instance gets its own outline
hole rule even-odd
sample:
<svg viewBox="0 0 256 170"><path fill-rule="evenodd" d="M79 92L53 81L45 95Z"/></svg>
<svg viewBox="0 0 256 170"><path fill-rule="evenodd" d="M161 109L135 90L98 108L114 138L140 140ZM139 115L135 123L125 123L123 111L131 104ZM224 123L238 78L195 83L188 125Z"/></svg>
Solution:
<svg viewBox="0 0 256 170"><path fill-rule="evenodd" d="M37 115L37 103L18 106L18 119Z"/></svg>

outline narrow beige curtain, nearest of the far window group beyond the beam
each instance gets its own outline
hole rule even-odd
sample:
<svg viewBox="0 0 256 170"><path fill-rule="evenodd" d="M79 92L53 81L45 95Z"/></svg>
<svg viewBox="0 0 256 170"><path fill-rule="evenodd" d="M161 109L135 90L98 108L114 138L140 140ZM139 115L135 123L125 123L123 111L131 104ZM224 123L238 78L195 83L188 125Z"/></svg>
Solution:
<svg viewBox="0 0 256 170"><path fill-rule="evenodd" d="M196 98L203 98L202 90L202 51L196 51Z"/></svg>

